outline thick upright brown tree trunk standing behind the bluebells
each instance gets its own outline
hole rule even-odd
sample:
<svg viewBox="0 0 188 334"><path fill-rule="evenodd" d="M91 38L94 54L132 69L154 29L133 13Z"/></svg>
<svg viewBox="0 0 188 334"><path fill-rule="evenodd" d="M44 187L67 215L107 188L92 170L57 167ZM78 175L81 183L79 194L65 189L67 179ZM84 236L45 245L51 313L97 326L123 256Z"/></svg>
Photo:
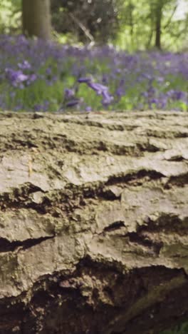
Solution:
<svg viewBox="0 0 188 334"><path fill-rule="evenodd" d="M23 34L51 39L50 0L22 0Z"/></svg>

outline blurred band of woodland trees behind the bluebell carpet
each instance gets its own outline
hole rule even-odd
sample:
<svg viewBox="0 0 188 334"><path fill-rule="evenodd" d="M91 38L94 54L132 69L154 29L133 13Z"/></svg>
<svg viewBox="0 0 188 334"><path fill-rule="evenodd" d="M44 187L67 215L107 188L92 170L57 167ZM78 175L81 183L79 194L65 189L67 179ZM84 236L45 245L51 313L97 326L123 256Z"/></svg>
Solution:
<svg viewBox="0 0 188 334"><path fill-rule="evenodd" d="M23 31L49 39L49 1L42 7L41 0L23 0L22 7L21 0L1 0L1 33L21 33L23 8ZM187 0L51 0L53 36L71 43L113 43L130 51L153 47L179 51L188 45L187 7Z"/></svg>

